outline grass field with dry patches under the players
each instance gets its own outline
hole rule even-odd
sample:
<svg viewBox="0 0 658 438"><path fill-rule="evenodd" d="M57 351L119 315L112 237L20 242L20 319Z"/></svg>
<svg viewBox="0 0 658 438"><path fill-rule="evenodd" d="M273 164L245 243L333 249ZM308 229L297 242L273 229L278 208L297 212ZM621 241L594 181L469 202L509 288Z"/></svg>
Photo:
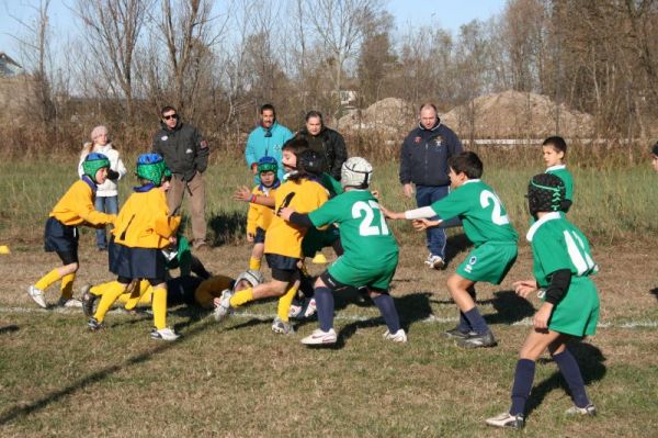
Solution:
<svg viewBox="0 0 658 438"><path fill-rule="evenodd" d="M441 336L456 318L445 279L468 250L460 231L451 231L447 270L430 271L422 267L421 236L399 224L394 228L402 248L392 293L409 334L406 345L385 342L376 308L352 296L337 301L340 339L327 350L298 342L316 322L299 322L293 336L271 333L273 302L248 306L222 324L195 310L171 308L168 322L183 335L173 344L148 338L146 313L112 313L107 329L89 333L81 313L38 310L25 293L58 265L43 252L42 228L75 178L69 167L0 165L0 245L12 249L0 256L0 436L506 435L484 419L509 406L517 353L537 304L511 291L512 281L532 272L523 239L506 281L478 289L499 339L494 349L462 350ZM236 274L249 257L241 236L245 205L229 200L232 188L247 182L236 167L219 172L214 166L208 175L208 181L222 181L208 184L216 247L200 254L213 272ZM521 235L527 228L525 181L540 170L519 165L486 173ZM412 206L399 196L395 165L377 167L376 177L387 205ZM655 177L644 167L576 172L578 198L569 214L594 243L602 312L597 336L572 349L599 416L564 416L570 400L545 357L524 435L658 436ZM111 279L106 256L92 242L90 232L82 234L77 287ZM47 299L57 295L52 289Z"/></svg>

